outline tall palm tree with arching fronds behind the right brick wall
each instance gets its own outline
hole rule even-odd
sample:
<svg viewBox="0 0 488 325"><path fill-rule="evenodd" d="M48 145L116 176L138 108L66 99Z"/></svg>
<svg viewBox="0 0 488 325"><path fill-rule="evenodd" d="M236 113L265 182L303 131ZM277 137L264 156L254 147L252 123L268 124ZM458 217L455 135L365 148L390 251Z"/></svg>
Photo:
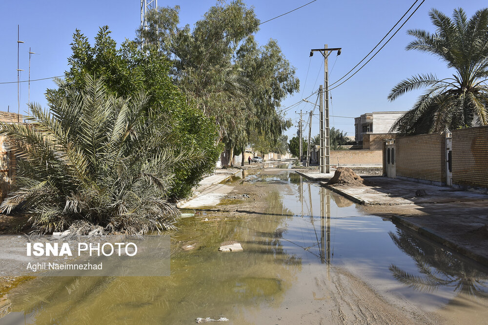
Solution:
<svg viewBox="0 0 488 325"><path fill-rule="evenodd" d="M417 40L406 49L433 54L455 73L444 79L419 74L398 83L388 95L389 101L411 90L427 90L391 131L421 134L488 125L488 8L478 10L469 20L461 8L454 10L452 20L436 9L429 16L436 32L408 30Z"/></svg>

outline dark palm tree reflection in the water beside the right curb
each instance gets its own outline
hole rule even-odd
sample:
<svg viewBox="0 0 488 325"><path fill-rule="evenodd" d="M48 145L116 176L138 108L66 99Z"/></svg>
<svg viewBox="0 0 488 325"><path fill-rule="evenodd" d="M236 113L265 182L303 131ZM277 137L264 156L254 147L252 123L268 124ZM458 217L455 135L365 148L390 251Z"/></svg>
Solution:
<svg viewBox="0 0 488 325"><path fill-rule="evenodd" d="M462 261L451 252L422 239L420 235L397 229L389 232L393 242L411 256L421 275L408 273L395 264L389 266L393 277L419 291L433 292L451 287L454 292L488 298L488 276L475 265Z"/></svg>

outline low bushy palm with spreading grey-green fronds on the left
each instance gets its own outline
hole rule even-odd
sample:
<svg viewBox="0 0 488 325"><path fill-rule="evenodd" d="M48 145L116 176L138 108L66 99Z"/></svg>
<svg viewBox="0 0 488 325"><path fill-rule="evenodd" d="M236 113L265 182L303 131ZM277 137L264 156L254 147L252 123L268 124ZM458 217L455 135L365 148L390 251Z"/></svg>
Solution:
<svg viewBox="0 0 488 325"><path fill-rule="evenodd" d="M175 171L209 158L169 148L173 128L143 91L128 98L86 75L81 88L58 80L49 110L30 104L30 124L1 123L20 158L17 190L1 204L20 207L43 231L144 233L174 227L167 194ZM62 94L62 96L61 96Z"/></svg>

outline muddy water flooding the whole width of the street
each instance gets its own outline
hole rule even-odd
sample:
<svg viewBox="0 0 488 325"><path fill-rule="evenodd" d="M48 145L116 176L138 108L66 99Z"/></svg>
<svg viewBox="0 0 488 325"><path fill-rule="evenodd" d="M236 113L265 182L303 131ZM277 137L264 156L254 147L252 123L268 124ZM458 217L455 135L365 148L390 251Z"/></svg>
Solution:
<svg viewBox="0 0 488 325"><path fill-rule="evenodd" d="M37 278L0 298L0 324L484 323L482 266L289 170L242 177L264 208L183 219L175 243L196 248L177 250L171 276ZM244 251L218 252L225 241Z"/></svg>

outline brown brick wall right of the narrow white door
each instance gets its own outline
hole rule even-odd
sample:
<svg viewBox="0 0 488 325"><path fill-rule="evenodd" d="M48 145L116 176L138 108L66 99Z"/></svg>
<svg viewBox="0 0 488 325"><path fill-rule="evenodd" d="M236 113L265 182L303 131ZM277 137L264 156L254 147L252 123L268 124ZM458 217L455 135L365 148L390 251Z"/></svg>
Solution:
<svg viewBox="0 0 488 325"><path fill-rule="evenodd" d="M488 126L452 131L452 183L488 188Z"/></svg>

